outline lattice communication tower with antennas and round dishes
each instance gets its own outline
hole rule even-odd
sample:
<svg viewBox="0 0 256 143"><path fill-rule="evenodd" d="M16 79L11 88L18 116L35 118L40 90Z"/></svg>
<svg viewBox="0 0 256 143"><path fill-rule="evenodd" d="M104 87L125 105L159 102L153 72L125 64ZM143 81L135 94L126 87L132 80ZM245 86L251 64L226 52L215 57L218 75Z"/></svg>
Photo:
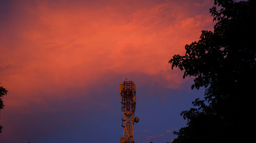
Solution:
<svg viewBox="0 0 256 143"><path fill-rule="evenodd" d="M134 122L138 123L139 118L134 118L136 107L136 86L132 80L124 80L119 84L119 93L121 100L121 110L123 112L122 127L123 136L120 138L121 143L135 143L134 142Z"/></svg>

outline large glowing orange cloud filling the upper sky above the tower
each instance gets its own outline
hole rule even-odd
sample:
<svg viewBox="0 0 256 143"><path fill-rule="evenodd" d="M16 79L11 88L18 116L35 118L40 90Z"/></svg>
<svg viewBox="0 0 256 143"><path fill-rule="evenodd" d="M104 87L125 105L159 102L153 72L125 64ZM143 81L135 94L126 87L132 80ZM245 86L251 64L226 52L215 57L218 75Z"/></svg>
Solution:
<svg viewBox="0 0 256 143"><path fill-rule="evenodd" d="M106 72L162 74L168 80L165 88L179 88L181 73L168 70L168 60L184 52L184 45L197 40L202 27L211 24L208 15L188 16L187 5L174 2L137 11L129 7L126 13L119 13L114 5L64 6L47 1L33 7L16 5L16 13L10 15L15 19L1 28L5 54L0 58L0 80L16 99L25 94L34 97L28 92L42 89L84 88Z"/></svg>

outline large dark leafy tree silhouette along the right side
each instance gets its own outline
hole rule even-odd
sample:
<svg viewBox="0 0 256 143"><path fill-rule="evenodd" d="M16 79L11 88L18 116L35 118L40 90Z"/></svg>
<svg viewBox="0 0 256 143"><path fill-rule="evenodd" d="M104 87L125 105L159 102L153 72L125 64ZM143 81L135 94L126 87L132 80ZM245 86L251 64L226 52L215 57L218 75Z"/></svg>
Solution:
<svg viewBox="0 0 256 143"><path fill-rule="evenodd" d="M202 31L185 55L169 63L193 76L191 89L205 88L204 100L182 111L187 126L174 132L173 142L245 142L252 140L255 122L256 47L255 1L215 0L210 9L214 32Z"/></svg>

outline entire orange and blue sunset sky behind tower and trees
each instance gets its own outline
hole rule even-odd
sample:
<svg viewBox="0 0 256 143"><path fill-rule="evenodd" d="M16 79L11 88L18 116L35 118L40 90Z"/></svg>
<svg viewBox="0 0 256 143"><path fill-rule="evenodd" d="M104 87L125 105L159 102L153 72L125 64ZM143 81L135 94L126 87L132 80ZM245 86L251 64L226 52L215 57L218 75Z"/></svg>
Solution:
<svg viewBox="0 0 256 143"><path fill-rule="evenodd" d="M0 0L1 143L113 142L119 84L137 90L135 142L171 142L203 90L168 61L212 30L209 0Z"/></svg>

